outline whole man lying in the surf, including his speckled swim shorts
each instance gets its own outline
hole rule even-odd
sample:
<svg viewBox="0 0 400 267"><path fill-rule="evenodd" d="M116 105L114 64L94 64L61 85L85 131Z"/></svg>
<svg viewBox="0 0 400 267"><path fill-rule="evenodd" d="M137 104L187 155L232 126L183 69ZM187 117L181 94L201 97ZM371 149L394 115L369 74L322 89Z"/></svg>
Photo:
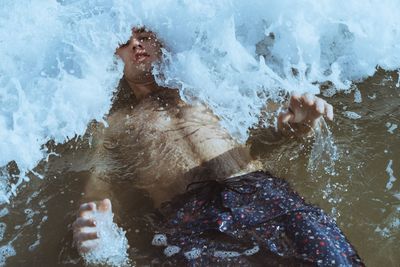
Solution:
<svg viewBox="0 0 400 267"><path fill-rule="evenodd" d="M188 105L177 90L156 84L151 68L161 58L161 47L153 32L135 28L130 40L117 49L136 103L110 114L96 149L109 166L123 168L126 177L113 179L131 179L149 193L156 207L167 203L160 208L164 221L157 231L168 237L164 253L176 258L172 262L248 264L253 254L264 255L261 262L265 262L266 254L258 252L262 250L272 258L280 255L305 263L362 265L333 220L306 204L283 180L254 172L259 165L248 149L219 125L207 107ZM288 110L279 114L278 131L306 135L322 116L333 119L326 101L292 94ZM97 173L110 177L108 169ZM240 172L247 174L226 179ZM89 201L103 200L82 204L73 224L81 253L94 248L88 240L99 238L91 215L111 211L110 183L98 176L89 181L85 195ZM192 189L185 193L188 186ZM87 233L85 227L94 231ZM221 241L210 233L222 233L222 239L233 241ZM256 246L246 250L245 243Z"/></svg>

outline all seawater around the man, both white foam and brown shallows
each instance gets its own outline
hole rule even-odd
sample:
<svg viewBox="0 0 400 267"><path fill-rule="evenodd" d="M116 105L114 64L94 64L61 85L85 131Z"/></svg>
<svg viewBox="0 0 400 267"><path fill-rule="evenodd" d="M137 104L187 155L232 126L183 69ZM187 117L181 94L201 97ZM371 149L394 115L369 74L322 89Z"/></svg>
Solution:
<svg viewBox="0 0 400 267"><path fill-rule="evenodd" d="M165 43L160 83L206 102L239 141L250 135L265 167L335 216L368 266L396 266L399 9L395 0L2 1L0 265L83 264L69 224L93 151L90 130L79 136L110 108L122 75L115 48L146 25ZM282 90L321 92L334 105L315 143L273 146L248 131ZM148 262L151 202L123 185L121 195L130 258Z"/></svg>

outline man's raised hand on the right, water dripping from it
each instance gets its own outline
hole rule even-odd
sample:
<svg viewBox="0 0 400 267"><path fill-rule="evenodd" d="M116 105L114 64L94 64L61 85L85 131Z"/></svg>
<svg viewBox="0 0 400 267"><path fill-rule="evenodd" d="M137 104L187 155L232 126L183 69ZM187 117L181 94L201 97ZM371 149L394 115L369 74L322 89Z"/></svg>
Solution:
<svg viewBox="0 0 400 267"><path fill-rule="evenodd" d="M305 93L292 93L288 109L278 116L278 129L296 135L308 134L322 117L333 120L333 107L322 98Z"/></svg>

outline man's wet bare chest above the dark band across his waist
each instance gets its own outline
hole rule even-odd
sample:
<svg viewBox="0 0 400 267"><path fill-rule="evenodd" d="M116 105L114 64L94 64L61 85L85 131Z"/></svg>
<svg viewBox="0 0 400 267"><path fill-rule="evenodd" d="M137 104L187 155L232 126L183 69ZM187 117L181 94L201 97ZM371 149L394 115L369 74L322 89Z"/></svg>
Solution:
<svg viewBox="0 0 400 267"><path fill-rule="evenodd" d="M140 161L208 161L237 144L204 106L171 106L154 99L110 118L109 139L118 150ZM138 160L136 159L136 162Z"/></svg>

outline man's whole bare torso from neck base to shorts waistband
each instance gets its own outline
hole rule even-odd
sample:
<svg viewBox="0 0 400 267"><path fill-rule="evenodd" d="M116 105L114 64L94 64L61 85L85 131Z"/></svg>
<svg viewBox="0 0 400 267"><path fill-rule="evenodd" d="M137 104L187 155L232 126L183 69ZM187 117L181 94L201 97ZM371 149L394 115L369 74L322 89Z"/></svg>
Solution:
<svg viewBox="0 0 400 267"><path fill-rule="evenodd" d="M156 202L190 182L232 175L250 160L209 109L185 104L173 90L115 112L108 123L103 147L113 177L132 179Z"/></svg>

